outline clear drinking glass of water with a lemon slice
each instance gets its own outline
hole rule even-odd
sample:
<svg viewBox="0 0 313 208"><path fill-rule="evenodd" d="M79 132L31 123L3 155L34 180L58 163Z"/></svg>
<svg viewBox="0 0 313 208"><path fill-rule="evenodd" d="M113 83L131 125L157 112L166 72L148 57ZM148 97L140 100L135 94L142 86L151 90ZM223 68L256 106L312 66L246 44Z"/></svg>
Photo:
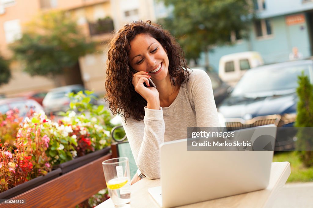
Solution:
<svg viewBox="0 0 313 208"><path fill-rule="evenodd" d="M130 207L131 176L127 157L102 162L106 187L115 207Z"/></svg>

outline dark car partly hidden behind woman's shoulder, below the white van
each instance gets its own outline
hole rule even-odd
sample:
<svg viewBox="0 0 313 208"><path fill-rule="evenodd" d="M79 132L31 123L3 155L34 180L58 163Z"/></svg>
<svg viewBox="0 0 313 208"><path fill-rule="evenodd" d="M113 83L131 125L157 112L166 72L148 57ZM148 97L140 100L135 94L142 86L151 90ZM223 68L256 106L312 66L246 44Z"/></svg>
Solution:
<svg viewBox="0 0 313 208"><path fill-rule="evenodd" d="M197 67L198 69L204 70L202 67ZM205 70L204 70L205 71ZM223 82L221 78L218 77L218 74L215 72L207 72L208 76L212 82L213 95L216 106L218 106L229 94L229 91L232 87Z"/></svg>

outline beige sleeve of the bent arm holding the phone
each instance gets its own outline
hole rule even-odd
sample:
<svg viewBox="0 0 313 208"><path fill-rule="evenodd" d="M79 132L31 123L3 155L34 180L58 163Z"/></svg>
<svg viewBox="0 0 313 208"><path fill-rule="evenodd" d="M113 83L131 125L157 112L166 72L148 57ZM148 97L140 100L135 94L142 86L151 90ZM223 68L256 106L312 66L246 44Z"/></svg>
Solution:
<svg viewBox="0 0 313 208"><path fill-rule="evenodd" d="M128 118L127 124L122 123L138 169L150 179L160 178L159 146L164 142L165 131L162 108L145 107L143 122Z"/></svg>

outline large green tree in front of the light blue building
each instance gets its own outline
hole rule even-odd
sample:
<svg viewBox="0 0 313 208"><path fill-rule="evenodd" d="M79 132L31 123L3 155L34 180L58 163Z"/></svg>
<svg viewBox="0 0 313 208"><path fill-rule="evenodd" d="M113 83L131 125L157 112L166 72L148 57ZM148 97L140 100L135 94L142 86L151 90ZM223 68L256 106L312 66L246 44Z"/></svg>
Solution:
<svg viewBox="0 0 313 208"><path fill-rule="evenodd" d="M197 59L210 45L230 43L231 32L249 28L253 17L249 0L163 0L172 15L160 20L185 51L187 59Z"/></svg>

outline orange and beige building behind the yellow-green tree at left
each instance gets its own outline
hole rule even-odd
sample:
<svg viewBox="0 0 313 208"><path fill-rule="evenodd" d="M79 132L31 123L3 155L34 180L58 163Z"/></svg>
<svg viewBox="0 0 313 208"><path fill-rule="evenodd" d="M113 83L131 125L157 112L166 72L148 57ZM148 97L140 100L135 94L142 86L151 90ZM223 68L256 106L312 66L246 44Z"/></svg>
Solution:
<svg viewBox="0 0 313 208"><path fill-rule="evenodd" d="M41 12L63 10L77 20L87 38L98 42L95 52L81 57L74 73L59 76L58 82L45 77L30 77L18 62L10 65L12 78L0 87L8 97L28 91L45 91L58 85L82 83L87 89L104 91L107 45L114 30L109 0L0 0L0 54L12 57L8 45L22 36L23 26ZM99 25L102 29L99 30Z"/></svg>

